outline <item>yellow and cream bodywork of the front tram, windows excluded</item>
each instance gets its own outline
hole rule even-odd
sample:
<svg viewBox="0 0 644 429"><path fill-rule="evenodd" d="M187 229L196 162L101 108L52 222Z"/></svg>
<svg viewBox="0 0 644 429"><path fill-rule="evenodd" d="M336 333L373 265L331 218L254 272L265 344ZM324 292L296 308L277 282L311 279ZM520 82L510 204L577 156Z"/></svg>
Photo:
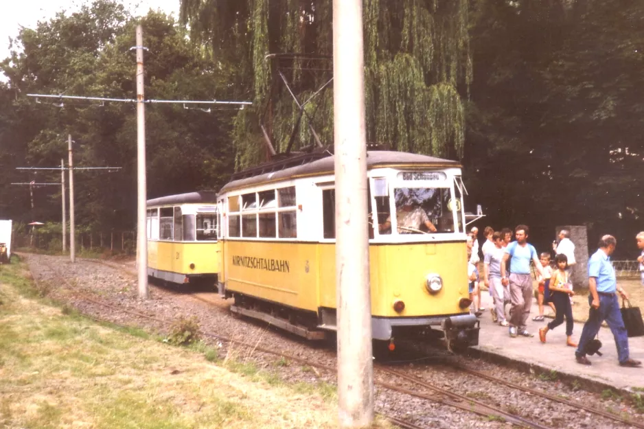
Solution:
<svg viewBox="0 0 644 429"><path fill-rule="evenodd" d="M445 164L441 162L444 160L428 162L424 159L429 157L419 157L423 161L402 165L381 163L369 168L370 207L376 207L375 179L386 178L389 195L393 195L396 187L409 186L403 173L441 172L428 181L423 181L421 175L421 180L413 185L450 189L452 197L457 196L458 200L455 204L458 211L452 210L455 227L451 233L398 234L393 229L387 235L373 228L369 240L371 315L373 338L380 340L391 338L393 327L441 325L446 317L469 314L468 307L459 306L461 299L468 298L465 217L460 210L461 168L453 161ZM319 315L320 327L332 327L336 308L335 239L323 237L322 192L334 187L334 176L332 172L281 176L288 177L280 180L265 174L259 183L233 181L218 195L223 233L220 292L225 290L227 295L243 294L313 312ZM228 235L229 197L290 186L295 186L297 196L297 239ZM389 201L395 220L395 202L393 198ZM439 292L430 293L426 287L430 273L439 275L443 281ZM395 301L404 302L402 312L394 310ZM332 318L325 318L325 312L331 312Z"/></svg>

